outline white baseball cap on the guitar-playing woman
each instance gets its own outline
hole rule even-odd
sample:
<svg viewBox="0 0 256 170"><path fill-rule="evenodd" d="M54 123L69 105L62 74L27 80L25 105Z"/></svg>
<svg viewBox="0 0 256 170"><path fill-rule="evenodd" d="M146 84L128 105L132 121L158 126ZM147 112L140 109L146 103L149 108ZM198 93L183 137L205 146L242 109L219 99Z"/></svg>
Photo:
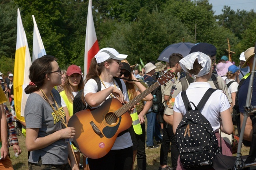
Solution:
<svg viewBox="0 0 256 170"><path fill-rule="evenodd" d="M109 59L124 60L127 56L128 55L125 54L119 54L119 52L117 52L113 48L103 48L98 51L98 53L94 57L96 58L97 63L102 63Z"/></svg>

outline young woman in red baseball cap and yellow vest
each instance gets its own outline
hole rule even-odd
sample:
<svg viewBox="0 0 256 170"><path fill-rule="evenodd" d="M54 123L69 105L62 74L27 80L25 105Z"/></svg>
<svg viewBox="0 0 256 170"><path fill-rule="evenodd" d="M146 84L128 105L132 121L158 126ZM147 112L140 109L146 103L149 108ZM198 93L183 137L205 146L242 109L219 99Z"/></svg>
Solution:
<svg viewBox="0 0 256 170"><path fill-rule="evenodd" d="M60 92L61 105L66 114L67 123L73 115L73 99L78 92L83 89L83 77L80 67L77 65L70 65L67 69L67 74L64 83L64 90ZM76 160L80 162L80 152L73 146ZM86 165L86 158L83 157L83 165Z"/></svg>

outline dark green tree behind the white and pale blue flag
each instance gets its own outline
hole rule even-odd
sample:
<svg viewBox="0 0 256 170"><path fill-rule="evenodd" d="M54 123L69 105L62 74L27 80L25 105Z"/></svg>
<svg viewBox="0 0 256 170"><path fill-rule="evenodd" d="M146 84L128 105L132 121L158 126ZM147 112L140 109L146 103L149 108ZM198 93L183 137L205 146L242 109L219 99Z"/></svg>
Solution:
<svg viewBox="0 0 256 170"><path fill-rule="evenodd" d="M65 4L61 0L19 0L22 22L26 32L30 54L32 56L33 44L33 20L35 16L39 32L41 34L46 54L51 54L59 59L59 65L63 67L69 61L67 35L69 27L65 23Z"/></svg>

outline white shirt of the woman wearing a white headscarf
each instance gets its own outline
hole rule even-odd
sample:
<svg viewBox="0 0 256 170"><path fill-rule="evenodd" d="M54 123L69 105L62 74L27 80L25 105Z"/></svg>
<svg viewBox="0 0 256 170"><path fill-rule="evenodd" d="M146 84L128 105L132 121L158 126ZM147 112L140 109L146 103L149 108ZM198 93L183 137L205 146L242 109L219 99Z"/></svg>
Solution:
<svg viewBox="0 0 256 170"><path fill-rule="evenodd" d="M189 99L189 101L192 101L195 106L197 106L199 101L202 99L205 92L209 88L211 88L211 86L207 82L191 83L186 90L187 98ZM193 105L191 105L191 107L195 109ZM206 117L206 119L208 119L214 132L217 132L220 128L220 112L223 112L229 108L230 103L226 94L221 90L216 90L215 92L213 92L213 94L211 94L210 98L208 99L202 110L200 110L200 112L202 113L202 115L204 115L204 117ZM173 110L175 112L181 113L183 116L186 114L186 108L181 97L181 92L175 98Z"/></svg>

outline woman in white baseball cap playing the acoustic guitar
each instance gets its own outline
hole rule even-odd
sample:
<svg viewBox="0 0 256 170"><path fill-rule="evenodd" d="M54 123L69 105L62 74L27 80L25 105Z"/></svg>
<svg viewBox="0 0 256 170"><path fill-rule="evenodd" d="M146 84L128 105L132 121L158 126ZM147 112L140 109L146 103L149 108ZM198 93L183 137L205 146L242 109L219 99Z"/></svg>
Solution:
<svg viewBox="0 0 256 170"><path fill-rule="evenodd" d="M119 60L126 57L127 55L119 54L115 49L104 48L91 60L84 87L84 99L91 109L100 107L108 98L117 98L121 103L129 101L124 82L121 81L121 91L117 81L113 79L114 76L120 76L122 64ZM101 90L98 92L94 78L100 79ZM119 134L108 154L98 159L89 158L88 163L91 170L131 170L132 160L132 139L127 130Z"/></svg>

